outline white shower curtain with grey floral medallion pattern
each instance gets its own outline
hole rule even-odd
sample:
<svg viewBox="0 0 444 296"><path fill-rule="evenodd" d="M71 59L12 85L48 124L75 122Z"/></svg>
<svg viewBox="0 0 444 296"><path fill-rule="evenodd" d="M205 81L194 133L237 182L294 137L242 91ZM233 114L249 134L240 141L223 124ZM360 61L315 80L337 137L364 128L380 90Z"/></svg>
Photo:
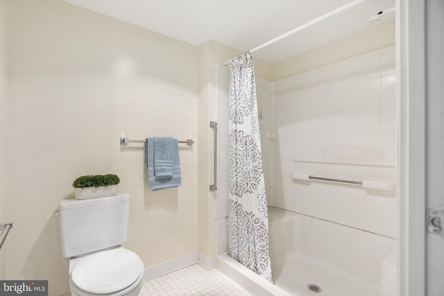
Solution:
<svg viewBox="0 0 444 296"><path fill-rule="evenodd" d="M228 255L272 281L255 73L250 53L234 58L229 73Z"/></svg>

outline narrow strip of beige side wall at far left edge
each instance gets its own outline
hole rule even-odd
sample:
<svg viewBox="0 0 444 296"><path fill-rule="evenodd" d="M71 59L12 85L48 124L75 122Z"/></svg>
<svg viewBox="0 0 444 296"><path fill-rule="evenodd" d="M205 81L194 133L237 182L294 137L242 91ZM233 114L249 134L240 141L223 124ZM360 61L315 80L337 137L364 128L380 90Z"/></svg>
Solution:
<svg viewBox="0 0 444 296"><path fill-rule="evenodd" d="M0 223L6 220L8 135L9 0L0 0ZM6 244L0 250L0 279L6 277Z"/></svg>

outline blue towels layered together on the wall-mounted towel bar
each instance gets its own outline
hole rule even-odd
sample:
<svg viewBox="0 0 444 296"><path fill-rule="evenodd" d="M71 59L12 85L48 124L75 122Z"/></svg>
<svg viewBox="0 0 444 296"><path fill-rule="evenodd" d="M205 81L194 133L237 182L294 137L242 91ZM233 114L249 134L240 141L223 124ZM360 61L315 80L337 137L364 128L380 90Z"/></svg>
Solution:
<svg viewBox="0 0 444 296"><path fill-rule="evenodd" d="M180 186L178 140L169 137L146 138L145 165L151 191Z"/></svg>

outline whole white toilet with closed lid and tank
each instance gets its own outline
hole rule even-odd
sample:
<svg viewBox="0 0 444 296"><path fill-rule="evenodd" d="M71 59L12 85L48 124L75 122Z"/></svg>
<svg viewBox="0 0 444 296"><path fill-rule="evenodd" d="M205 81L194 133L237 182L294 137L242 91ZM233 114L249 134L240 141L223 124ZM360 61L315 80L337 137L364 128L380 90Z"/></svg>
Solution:
<svg viewBox="0 0 444 296"><path fill-rule="evenodd" d="M69 260L71 295L139 295L144 264L120 244L128 234L130 196L60 201L62 256Z"/></svg>

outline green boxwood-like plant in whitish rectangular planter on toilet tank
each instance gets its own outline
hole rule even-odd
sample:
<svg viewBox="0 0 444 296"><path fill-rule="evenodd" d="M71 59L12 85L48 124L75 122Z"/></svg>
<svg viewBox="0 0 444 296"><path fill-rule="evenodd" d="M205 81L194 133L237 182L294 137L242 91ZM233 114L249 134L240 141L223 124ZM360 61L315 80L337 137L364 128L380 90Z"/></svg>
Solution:
<svg viewBox="0 0 444 296"><path fill-rule="evenodd" d="M101 198L103 196L116 195L119 177L114 174L107 175L84 175L78 177L72 183L76 189L75 195L78 200L86 198Z"/></svg>

